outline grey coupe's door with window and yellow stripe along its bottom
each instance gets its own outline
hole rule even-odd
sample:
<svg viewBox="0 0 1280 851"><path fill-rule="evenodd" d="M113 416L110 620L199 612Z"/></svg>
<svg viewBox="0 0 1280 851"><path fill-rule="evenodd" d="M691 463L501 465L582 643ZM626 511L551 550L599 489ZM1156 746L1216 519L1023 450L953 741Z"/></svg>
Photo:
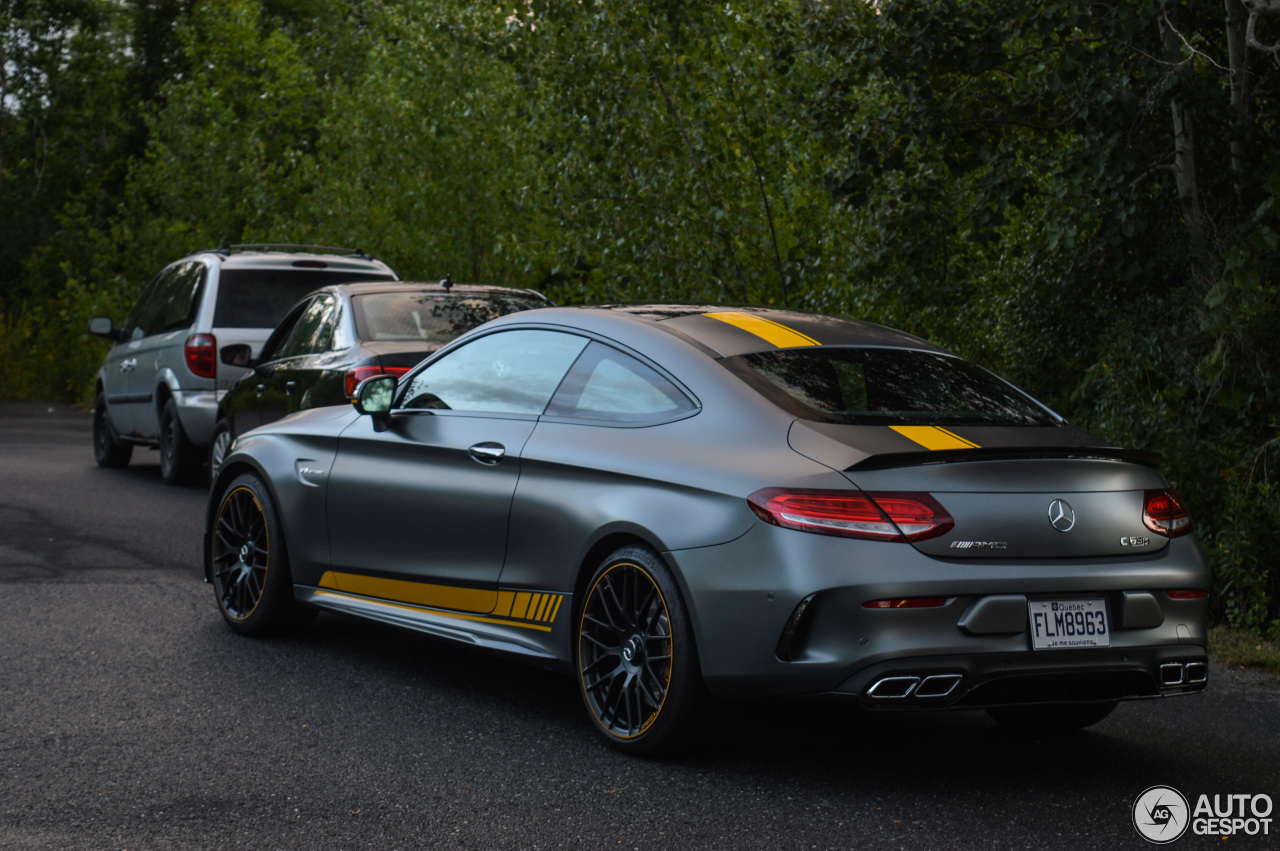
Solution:
<svg viewBox="0 0 1280 851"><path fill-rule="evenodd" d="M586 343L541 329L486 334L413 374L385 431L371 417L349 426L329 479L328 582L492 612L521 450Z"/></svg>

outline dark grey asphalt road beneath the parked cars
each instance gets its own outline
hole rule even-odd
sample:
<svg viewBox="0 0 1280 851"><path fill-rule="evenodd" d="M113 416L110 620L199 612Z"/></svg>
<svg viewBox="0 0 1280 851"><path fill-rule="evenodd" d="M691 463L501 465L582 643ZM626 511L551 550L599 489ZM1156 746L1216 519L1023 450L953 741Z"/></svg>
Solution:
<svg viewBox="0 0 1280 851"><path fill-rule="evenodd" d="M753 703L622 756L561 674L333 614L233 635L204 503L154 452L97 468L88 415L0 406L0 848L1144 848L1151 786L1280 804L1280 685L1217 664L1068 737ZM1280 848L1271 818L1170 847Z"/></svg>

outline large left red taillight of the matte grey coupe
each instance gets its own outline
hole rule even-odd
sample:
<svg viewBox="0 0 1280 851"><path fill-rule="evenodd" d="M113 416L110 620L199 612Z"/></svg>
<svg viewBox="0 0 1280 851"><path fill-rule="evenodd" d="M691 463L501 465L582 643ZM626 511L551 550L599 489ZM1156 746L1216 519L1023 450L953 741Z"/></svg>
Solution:
<svg viewBox="0 0 1280 851"><path fill-rule="evenodd" d="M877 541L946 535L951 514L928 494L765 488L748 497L756 517L785 529Z"/></svg>

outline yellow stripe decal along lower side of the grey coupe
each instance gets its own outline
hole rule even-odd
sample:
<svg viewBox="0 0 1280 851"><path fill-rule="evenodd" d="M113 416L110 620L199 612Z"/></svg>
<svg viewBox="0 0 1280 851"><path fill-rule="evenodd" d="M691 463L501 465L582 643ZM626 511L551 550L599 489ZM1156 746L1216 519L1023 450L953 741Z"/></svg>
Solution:
<svg viewBox="0 0 1280 851"><path fill-rule="evenodd" d="M457 587L454 585L433 585L430 582L387 580L378 576L358 576L356 573L340 573L338 571L325 571L324 576L320 577L320 587L429 609L449 609L451 612L494 614L499 618L511 619L471 619L489 621L492 623L512 623L513 626L530 626L527 623L515 623L516 621L554 623L556 613L559 612L559 604L564 599L563 594L493 591L485 589Z"/></svg>

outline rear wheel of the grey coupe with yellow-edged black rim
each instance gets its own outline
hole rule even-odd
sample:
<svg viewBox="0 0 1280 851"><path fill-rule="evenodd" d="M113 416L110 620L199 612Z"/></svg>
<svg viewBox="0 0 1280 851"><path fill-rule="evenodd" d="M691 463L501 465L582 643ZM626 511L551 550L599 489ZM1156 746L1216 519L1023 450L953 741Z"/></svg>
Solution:
<svg viewBox="0 0 1280 851"><path fill-rule="evenodd" d="M652 550L620 549L591 575L573 655L588 715L614 749L669 754L700 728L709 701L689 610Z"/></svg>

